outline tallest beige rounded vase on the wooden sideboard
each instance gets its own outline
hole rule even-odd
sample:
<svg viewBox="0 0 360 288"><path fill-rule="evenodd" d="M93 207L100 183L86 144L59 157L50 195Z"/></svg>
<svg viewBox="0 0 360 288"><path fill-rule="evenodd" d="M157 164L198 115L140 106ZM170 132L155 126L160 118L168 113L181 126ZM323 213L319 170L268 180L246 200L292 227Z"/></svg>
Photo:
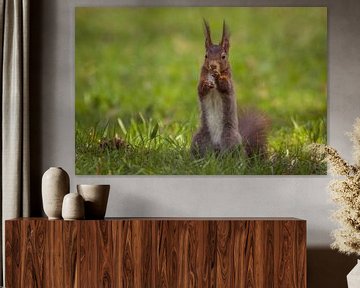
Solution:
<svg viewBox="0 0 360 288"><path fill-rule="evenodd" d="M61 219L63 198L69 193L69 175L60 167L49 168L42 177L43 208L49 219Z"/></svg>

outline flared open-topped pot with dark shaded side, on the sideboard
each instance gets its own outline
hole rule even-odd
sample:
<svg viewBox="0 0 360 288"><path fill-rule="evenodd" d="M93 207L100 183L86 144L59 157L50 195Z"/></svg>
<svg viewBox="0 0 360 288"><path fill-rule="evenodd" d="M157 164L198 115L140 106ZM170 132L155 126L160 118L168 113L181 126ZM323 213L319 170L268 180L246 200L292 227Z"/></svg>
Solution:
<svg viewBox="0 0 360 288"><path fill-rule="evenodd" d="M77 185L77 191L85 201L85 219L104 219L110 185Z"/></svg>

